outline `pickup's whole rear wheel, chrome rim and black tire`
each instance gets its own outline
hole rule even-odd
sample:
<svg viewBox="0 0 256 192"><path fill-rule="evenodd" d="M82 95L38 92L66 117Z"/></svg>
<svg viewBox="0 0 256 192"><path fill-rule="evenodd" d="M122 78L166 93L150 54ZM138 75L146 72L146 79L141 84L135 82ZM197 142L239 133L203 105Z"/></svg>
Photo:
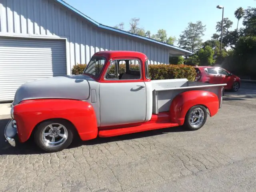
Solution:
<svg viewBox="0 0 256 192"><path fill-rule="evenodd" d="M204 126L207 119L206 108L202 105L196 105L188 110L184 126L188 130L198 130Z"/></svg>

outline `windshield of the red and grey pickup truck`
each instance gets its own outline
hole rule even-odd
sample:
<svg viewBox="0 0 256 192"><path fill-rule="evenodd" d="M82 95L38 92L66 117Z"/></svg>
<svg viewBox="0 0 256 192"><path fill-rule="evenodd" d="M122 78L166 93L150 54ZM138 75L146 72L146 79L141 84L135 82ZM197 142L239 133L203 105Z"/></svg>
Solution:
<svg viewBox="0 0 256 192"><path fill-rule="evenodd" d="M86 66L84 73L90 74L94 77L98 77L100 75L100 72L105 64L106 58L99 57L99 56L93 56Z"/></svg>

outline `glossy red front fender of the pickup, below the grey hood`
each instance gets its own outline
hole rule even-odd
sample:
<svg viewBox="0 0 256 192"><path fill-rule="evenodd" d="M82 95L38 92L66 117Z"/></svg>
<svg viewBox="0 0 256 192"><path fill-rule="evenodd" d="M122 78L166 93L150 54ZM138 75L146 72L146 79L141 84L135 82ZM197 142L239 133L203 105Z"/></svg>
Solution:
<svg viewBox="0 0 256 192"><path fill-rule="evenodd" d="M36 125L44 120L62 118L70 121L81 140L90 140L98 135L96 114L91 104L81 100L38 99L25 100L14 106L20 142L30 137Z"/></svg>

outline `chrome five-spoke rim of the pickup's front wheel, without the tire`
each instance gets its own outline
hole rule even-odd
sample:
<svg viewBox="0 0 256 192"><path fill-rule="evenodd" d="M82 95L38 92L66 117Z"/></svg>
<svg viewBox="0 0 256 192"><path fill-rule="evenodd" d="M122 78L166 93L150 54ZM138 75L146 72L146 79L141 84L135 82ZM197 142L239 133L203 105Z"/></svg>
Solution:
<svg viewBox="0 0 256 192"><path fill-rule="evenodd" d="M59 123L46 126L41 134L42 142L48 147L58 147L64 144L68 138L68 130Z"/></svg>

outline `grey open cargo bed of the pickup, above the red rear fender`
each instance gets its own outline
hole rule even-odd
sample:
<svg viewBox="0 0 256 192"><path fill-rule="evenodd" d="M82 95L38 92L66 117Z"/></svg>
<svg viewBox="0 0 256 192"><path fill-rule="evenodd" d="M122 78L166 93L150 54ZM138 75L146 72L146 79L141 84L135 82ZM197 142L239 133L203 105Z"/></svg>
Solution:
<svg viewBox="0 0 256 192"><path fill-rule="evenodd" d="M226 84L194 82L188 81L187 79L153 80L152 113L158 114L159 112L168 111L175 96L188 90L204 90L213 92L218 96L219 100L222 100L222 87L225 85Z"/></svg>

